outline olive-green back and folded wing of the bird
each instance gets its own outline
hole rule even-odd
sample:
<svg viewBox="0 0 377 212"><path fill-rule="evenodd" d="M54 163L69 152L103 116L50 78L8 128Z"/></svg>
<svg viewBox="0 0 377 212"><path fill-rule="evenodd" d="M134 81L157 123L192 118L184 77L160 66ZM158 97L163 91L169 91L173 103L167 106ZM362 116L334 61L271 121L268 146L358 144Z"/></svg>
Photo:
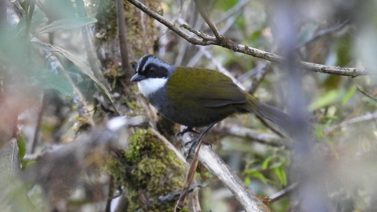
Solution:
<svg viewBox="0 0 377 212"><path fill-rule="evenodd" d="M178 66L168 81L169 89L185 91L182 98L205 107L246 103L244 91L230 77L211 69Z"/></svg>

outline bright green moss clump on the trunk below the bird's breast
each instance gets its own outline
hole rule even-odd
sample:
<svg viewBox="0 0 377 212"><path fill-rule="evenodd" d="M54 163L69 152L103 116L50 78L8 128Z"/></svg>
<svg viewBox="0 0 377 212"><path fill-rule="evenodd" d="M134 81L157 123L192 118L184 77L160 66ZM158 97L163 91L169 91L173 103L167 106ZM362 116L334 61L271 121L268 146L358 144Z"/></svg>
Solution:
<svg viewBox="0 0 377 212"><path fill-rule="evenodd" d="M150 130L140 129L129 139L130 149L110 159L110 172L127 191L128 211L144 208L139 194L153 198L148 211L171 211L176 201L160 203L159 196L181 189L186 169L175 153Z"/></svg>

